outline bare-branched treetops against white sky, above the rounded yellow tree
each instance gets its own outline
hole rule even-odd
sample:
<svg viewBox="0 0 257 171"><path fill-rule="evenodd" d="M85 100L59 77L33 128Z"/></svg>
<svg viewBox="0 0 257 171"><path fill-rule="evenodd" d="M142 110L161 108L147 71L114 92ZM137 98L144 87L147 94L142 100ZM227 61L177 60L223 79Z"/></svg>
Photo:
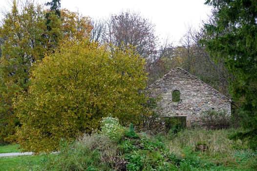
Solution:
<svg viewBox="0 0 257 171"><path fill-rule="evenodd" d="M149 59L156 53L155 25L140 13L133 11L112 14L106 21L92 21L92 40L114 44L132 45L141 57ZM104 40L104 41L103 41Z"/></svg>

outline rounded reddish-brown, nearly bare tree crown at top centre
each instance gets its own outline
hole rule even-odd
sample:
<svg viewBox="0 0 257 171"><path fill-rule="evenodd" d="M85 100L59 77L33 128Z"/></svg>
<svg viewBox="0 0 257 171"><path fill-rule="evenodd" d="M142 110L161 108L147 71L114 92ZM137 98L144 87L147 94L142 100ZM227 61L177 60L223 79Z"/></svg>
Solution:
<svg viewBox="0 0 257 171"><path fill-rule="evenodd" d="M117 46L132 45L145 58L154 53L156 37L154 25L135 12L112 15L108 33L110 43Z"/></svg>

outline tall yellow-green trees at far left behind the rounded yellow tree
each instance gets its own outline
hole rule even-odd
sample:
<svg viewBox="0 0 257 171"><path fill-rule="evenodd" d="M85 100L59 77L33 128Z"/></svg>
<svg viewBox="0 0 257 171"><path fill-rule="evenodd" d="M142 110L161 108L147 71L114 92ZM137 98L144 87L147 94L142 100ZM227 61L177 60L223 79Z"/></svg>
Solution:
<svg viewBox="0 0 257 171"><path fill-rule="evenodd" d="M61 16L44 11L41 5L12 1L0 25L0 144L15 141L19 125L13 98L27 91L30 73L46 53L54 52L63 39L88 40L92 26L88 17L61 10ZM49 13L48 23L45 14ZM47 26L51 25L51 29ZM58 40L58 41L57 41Z"/></svg>

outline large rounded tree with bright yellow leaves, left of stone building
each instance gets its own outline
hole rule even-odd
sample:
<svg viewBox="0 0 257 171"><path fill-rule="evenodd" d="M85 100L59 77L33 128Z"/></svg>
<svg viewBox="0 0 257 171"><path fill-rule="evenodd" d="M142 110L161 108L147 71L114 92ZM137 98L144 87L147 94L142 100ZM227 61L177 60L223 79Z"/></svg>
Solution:
<svg viewBox="0 0 257 171"><path fill-rule="evenodd" d="M15 100L24 150L59 150L61 140L92 132L108 114L123 125L137 125L148 113L143 107L145 61L133 48L109 50L86 41L64 42L43 58L28 91Z"/></svg>

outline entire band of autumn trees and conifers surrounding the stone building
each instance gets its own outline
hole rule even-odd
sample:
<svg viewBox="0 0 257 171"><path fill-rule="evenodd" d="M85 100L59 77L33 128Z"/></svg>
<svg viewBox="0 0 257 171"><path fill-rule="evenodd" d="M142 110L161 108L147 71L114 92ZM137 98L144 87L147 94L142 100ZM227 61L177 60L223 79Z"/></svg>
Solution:
<svg viewBox="0 0 257 171"><path fill-rule="evenodd" d="M58 150L62 138L95 131L108 114L140 128L151 114L142 90L172 67L232 97L247 116L239 137L256 139L254 0L207 0L213 16L199 30L189 27L177 47L160 45L139 13L94 21L61 9L61 0L12 2L0 25L1 144L19 139L25 150Z"/></svg>

